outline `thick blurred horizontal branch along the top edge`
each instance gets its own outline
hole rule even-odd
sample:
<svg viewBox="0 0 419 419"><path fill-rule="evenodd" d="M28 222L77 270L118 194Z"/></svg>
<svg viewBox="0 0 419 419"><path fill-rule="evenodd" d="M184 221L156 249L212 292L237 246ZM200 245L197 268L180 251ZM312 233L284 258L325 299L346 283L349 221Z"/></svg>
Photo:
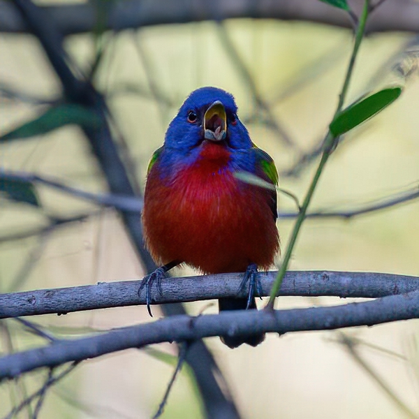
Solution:
<svg viewBox="0 0 419 419"><path fill-rule="evenodd" d="M353 1L355 6L360 1ZM112 5L111 5L112 4ZM96 6L95 6L96 5ZM43 6L61 34L93 31L98 3ZM232 18L300 20L351 28L344 11L313 0L120 0L108 3L107 29L120 31L156 24L179 24ZM367 33L380 31L419 31L419 4L411 0L388 0L372 14ZM28 32L13 3L0 1L0 31Z"/></svg>

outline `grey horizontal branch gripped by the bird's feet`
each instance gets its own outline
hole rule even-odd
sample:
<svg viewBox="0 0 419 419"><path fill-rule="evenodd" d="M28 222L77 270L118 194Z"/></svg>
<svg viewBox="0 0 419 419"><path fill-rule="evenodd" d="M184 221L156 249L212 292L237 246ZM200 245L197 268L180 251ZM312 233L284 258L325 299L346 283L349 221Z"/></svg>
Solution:
<svg viewBox="0 0 419 419"><path fill-rule="evenodd" d="M270 293L276 271L260 274L263 295ZM152 293L156 304L246 297L240 290L242 274L168 278L161 282L162 293ZM0 318L66 314L72 311L145 304L145 290L139 281L103 282L98 285L25 291L0 295ZM278 295L307 297L376 298L408 293L419 288L419 278L372 272L287 272Z"/></svg>

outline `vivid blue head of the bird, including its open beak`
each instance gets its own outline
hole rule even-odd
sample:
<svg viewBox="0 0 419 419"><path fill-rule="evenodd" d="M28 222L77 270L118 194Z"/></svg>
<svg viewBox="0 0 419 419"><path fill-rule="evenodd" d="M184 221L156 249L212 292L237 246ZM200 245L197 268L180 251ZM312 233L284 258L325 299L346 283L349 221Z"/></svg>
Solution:
<svg viewBox="0 0 419 419"><path fill-rule="evenodd" d="M233 96L216 87L201 87L186 98L166 131L165 148L189 153L204 141L230 149L252 147Z"/></svg>

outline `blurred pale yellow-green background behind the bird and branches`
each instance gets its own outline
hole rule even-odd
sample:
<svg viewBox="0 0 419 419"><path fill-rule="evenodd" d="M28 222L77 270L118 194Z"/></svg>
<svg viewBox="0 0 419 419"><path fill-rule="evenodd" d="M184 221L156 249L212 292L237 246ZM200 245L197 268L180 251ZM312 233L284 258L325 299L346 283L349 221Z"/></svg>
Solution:
<svg viewBox="0 0 419 419"><path fill-rule="evenodd" d="M99 25L100 26L100 25ZM97 29L97 28L96 28ZM353 45L351 29L309 22L235 19L166 24L66 36L66 51L92 80L112 113L112 133L142 190L147 163L184 98L197 87L230 91L253 142L277 163L280 186L304 197L316 159L303 159L327 132ZM345 136L328 162L311 210L348 210L418 187L419 38L409 32L370 34L363 41L351 103L387 85L402 96ZM41 115L61 96L57 75L41 45L28 34L0 35L0 135ZM404 68L400 75L397 69ZM75 186L106 192L102 172L80 128L0 145L0 164ZM304 163L299 164L300 161ZM115 210L37 186L41 207L3 196L0 207L0 292L139 279L145 270ZM419 203L411 201L353 219L309 219L292 270L419 274ZM279 212L295 212L279 196ZM71 219L79 221L71 222ZM68 219L50 226L51 219ZM81 220L81 221L80 221ZM278 221L282 247L293 219ZM175 275L192 274L188 269ZM348 300L283 297L277 307L311 307ZM263 302L260 302L263 304ZM207 302L186 304L198 314ZM216 307L205 308L205 313ZM158 318L158 308L154 309ZM31 319L32 320L32 319ZM145 307L38 316L58 337L149 321ZM205 339L243 418L404 418L419 416L418 321L341 332L270 335L257 348L230 350ZM45 344L15 321L0 323L1 353ZM174 345L156 347L176 355ZM160 354L161 355L161 354ZM80 367L54 386L41 418L150 418L161 402L175 358L130 350ZM165 358L166 359L166 358ZM47 372L0 385L5 416ZM30 417L23 411L19 418ZM198 392L185 367L163 418L202 418Z"/></svg>

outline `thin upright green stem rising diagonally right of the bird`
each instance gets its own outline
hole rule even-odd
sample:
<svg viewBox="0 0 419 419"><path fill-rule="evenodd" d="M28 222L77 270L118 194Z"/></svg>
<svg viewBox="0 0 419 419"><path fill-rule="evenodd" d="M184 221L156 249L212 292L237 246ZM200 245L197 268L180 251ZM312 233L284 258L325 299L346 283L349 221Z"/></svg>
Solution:
<svg viewBox="0 0 419 419"><path fill-rule="evenodd" d="M351 77L352 77L352 73L353 73L353 66L355 64L355 59L358 55L358 50L360 48L360 44L361 44L362 38L364 36L365 24L367 22L368 13L369 13L369 0L365 0L364 8L362 9L362 13L360 15L360 20L358 22L358 27L357 27L356 32L355 32L355 43L353 45L351 60L349 61L348 71L346 71L346 77L345 77L345 80L344 80L344 85L341 89L341 94L339 95L339 103L337 104L337 109L335 111L335 115L333 115L333 119L335 119L335 117L337 117L337 115L341 111L341 108L344 104L344 100L346 98L349 82L351 82ZM284 275L286 273L286 270L288 269L288 264L289 264L289 261L291 259L291 254L293 253L295 243L297 242L297 236L300 233L300 228L302 226L302 223L304 222L305 215L306 215L306 212L307 212L307 208L309 207L311 198L313 197L314 191L315 191L316 186L318 184L318 179L320 179L321 174L323 172L323 168L325 167L325 164L327 163L327 161L329 159L329 156L332 152L332 149L336 145L338 139L339 139L339 136L336 137L335 135L333 135L330 132L330 130L328 131L328 134L325 136L325 139L324 139L324 142L323 142L324 149L323 149L323 154L321 156L321 161L320 161L320 163L318 163L318 168L316 170L316 173L314 174L313 179L311 180L311 184L309 186L307 194L306 194L306 196L304 198L304 201L302 203L300 214L298 215L297 221L295 221L295 225L294 225L293 231L291 233L291 237L290 237L288 245L286 247L284 260L282 261L282 265L279 268L277 279L275 279L274 284L272 286L269 302L267 303L267 306L266 306L267 309L273 309L274 308L274 300L275 300L275 297L277 296L277 293L278 293L279 289L281 288L281 284L282 284L282 281L284 279Z"/></svg>

